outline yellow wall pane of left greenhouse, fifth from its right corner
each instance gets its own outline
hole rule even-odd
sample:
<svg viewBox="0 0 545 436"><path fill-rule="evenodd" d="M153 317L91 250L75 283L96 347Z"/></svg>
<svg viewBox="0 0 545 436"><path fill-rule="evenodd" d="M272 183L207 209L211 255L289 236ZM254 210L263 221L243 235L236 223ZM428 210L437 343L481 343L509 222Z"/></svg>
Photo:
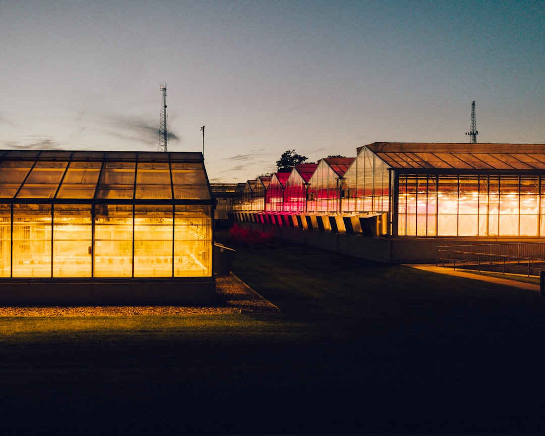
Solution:
<svg viewBox="0 0 545 436"><path fill-rule="evenodd" d="M13 205L13 276L51 277L51 206Z"/></svg>

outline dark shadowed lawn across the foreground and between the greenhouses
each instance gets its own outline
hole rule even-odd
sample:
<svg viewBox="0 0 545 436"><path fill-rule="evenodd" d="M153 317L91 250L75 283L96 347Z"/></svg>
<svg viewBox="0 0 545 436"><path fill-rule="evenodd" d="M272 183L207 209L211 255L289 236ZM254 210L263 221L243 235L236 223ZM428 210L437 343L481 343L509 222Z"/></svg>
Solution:
<svg viewBox="0 0 545 436"><path fill-rule="evenodd" d="M545 432L539 293L237 249L281 315L0 318L1 434Z"/></svg>

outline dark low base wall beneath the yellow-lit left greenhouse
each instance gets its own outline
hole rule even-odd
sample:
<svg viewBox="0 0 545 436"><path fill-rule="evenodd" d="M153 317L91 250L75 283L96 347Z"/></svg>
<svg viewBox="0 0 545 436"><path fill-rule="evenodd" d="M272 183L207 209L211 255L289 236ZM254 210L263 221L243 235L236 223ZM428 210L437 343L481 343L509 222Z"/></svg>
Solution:
<svg viewBox="0 0 545 436"><path fill-rule="evenodd" d="M216 302L214 278L189 280L0 281L1 305L210 305Z"/></svg>

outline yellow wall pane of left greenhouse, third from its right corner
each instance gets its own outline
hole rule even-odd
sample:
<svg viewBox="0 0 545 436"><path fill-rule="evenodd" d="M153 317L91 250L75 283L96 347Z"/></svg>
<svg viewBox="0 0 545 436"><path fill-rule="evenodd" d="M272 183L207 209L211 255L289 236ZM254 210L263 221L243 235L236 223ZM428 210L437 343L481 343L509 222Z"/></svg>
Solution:
<svg viewBox="0 0 545 436"><path fill-rule="evenodd" d="M132 205L95 207L95 277L132 276Z"/></svg>

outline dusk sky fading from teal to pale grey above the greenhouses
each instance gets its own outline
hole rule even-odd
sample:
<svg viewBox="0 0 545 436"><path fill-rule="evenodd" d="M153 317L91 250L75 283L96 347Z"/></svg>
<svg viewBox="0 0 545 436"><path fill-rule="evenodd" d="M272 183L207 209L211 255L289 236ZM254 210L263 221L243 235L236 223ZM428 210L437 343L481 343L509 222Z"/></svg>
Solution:
<svg viewBox="0 0 545 436"><path fill-rule="evenodd" d="M545 1L3 1L0 148L170 152L211 182L372 142L545 143Z"/></svg>

